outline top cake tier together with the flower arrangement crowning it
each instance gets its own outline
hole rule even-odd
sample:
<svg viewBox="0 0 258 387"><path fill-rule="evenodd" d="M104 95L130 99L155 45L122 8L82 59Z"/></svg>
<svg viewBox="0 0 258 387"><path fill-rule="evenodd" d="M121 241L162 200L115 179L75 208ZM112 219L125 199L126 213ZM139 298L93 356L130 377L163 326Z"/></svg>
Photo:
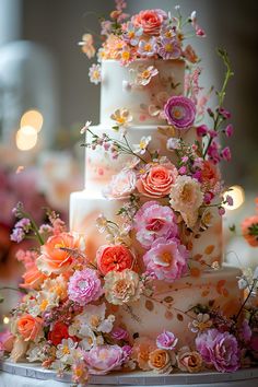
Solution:
<svg viewBox="0 0 258 387"><path fill-rule="evenodd" d="M129 16L124 5L117 1L110 20L102 21L98 63L89 72L91 82L102 82L101 124L109 125L117 109L126 109L131 125L164 125L161 113L166 101L184 94L185 63L199 60L186 44L189 31L185 30L194 28L197 36L204 32L195 12L185 20L178 8L173 15L153 9ZM90 59L96 54L94 43L91 34L80 43Z"/></svg>

